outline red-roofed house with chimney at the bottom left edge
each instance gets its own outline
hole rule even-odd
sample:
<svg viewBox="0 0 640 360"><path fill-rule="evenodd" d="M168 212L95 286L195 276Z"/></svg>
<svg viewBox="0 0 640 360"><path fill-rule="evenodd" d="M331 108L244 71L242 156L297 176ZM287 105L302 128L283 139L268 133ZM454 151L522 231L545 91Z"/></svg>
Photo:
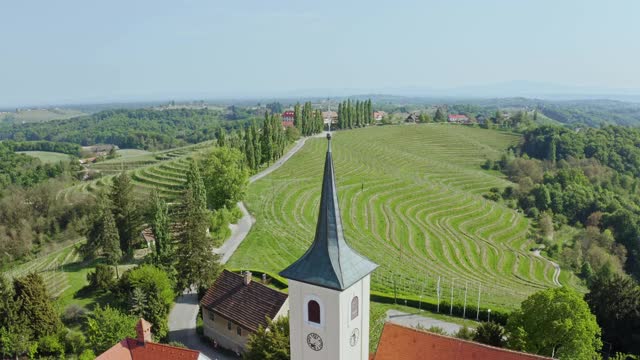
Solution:
<svg viewBox="0 0 640 360"><path fill-rule="evenodd" d="M198 351L154 343L151 324L140 319L136 338L126 338L98 355L96 360L210 360Z"/></svg>

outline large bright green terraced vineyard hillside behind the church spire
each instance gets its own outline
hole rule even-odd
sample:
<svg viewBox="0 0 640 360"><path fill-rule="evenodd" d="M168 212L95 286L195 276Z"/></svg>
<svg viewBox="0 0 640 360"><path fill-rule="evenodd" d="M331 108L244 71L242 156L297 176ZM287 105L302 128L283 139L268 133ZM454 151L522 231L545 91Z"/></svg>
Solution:
<svg viewBox="0 0 640 360"><path fill-rule="evenodd" d="M513 308L554 286L554 267L534 256L528 220L482 194L509 183L481 170L518 138L447 125L336 132L334 162L345 233L380 268L372 290ZM326 140L310 139L279 170L249 187L257 222L233 268L278 272L313 239ZM562 273L561 282L568 281ZM453 290L452 290L453 289ZM453 295L452 295L453 293Z"/></svg>

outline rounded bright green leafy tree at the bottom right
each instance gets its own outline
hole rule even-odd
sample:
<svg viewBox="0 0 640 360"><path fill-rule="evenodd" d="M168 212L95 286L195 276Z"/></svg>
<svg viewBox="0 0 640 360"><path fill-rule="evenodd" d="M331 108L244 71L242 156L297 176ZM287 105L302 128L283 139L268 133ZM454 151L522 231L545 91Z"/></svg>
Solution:
<svg viewBox="0 0 640 360"><path fill-rule="evenodd" d="M511 314L507 328L510 344L539 355L587 360L602 348L600 327L589 306L565 287L529 296Z"/></svg>

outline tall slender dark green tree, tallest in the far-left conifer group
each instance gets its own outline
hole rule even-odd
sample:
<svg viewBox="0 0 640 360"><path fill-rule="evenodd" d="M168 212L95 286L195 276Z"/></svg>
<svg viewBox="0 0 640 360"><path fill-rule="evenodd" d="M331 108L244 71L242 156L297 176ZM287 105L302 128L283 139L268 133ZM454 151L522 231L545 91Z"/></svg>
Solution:
<svg viewBox="0 0 640 360"><path fill-rule="evenodd" d="M133 183L127 172L113 178L113 185L109 194L111 210L115 218L120 236L120 249L128 256L133 255L133 242L137 237L138 209L133 197Z"/></svg>

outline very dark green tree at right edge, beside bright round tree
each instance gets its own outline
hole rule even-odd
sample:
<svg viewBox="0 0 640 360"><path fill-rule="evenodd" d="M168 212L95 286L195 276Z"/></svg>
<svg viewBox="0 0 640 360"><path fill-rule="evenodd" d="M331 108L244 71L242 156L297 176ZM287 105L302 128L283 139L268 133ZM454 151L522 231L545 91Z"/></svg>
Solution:
<svg viewBox="0 0 640 360"><path fill-rule="evenodd" d="M593 276L587 303L614 351L640 353L640 286L630 277L604 272Z"/></svg>

